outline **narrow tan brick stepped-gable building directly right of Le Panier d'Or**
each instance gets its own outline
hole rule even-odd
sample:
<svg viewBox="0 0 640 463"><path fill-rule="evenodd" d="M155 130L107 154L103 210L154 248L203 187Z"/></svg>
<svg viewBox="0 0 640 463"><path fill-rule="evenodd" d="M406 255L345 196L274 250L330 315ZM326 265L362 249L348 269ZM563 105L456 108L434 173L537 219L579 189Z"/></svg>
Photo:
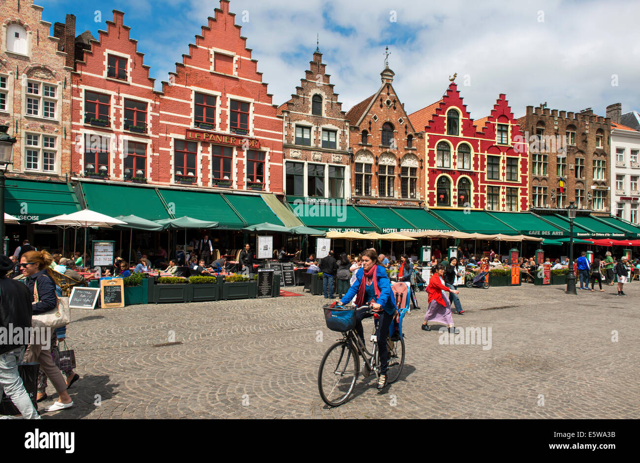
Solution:
<svg viewBox="0 0 640 463"><path fill-rule="evenodd" d="M278 107L282 118L284 191L288 200L349 198L349 121L333 92L322 53L300 79L291 99Z"/></svg>

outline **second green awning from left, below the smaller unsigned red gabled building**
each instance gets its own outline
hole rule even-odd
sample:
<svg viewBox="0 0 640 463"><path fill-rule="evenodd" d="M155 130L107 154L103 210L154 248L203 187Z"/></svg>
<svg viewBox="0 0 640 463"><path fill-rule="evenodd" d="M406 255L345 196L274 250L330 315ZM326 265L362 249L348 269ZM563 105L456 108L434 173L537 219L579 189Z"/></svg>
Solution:
<svg viewBox="0 0 640 463"><path fill-rule="evenodd" d="M147 220L171 216L155 188L82 182L86 207L107 216L138 216Z"/></svg>

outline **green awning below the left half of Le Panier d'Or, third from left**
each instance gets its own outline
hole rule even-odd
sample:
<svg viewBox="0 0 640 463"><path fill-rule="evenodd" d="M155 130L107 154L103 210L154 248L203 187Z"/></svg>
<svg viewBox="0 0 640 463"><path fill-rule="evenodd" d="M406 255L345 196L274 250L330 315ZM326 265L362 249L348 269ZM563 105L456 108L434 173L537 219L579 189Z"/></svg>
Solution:
<svg viewBox="0 0 640 463"><path fill-rule="evenodd" d="M241 230L246 225L220 193L177 189L159 191L177 217L188 216L198 220L216 221L218 228L229 230Z"/></svg>

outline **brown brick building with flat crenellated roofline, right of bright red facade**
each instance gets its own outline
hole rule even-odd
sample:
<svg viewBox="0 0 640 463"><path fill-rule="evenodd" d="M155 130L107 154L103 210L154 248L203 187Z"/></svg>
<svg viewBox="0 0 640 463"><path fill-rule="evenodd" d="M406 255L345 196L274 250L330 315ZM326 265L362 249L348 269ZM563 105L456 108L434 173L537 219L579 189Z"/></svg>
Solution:
<svg viewBox="0 0 640 463"><path fill-rule="evenodd" d="M611 118L527 106L518 119L530 142L529 202L534 211L575 201L596 215L611 210Z"/></svg>

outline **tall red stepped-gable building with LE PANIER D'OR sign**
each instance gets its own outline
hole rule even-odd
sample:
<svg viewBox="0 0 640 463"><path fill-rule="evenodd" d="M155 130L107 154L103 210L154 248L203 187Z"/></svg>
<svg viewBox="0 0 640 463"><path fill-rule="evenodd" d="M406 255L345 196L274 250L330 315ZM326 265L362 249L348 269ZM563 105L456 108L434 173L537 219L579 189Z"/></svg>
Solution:
<svg viewBox="0 0 640 463"><path fill-rule="evenodd" d="M158 180L281 194L282 120L234 17L221 0L163 82Z"/></svg>

